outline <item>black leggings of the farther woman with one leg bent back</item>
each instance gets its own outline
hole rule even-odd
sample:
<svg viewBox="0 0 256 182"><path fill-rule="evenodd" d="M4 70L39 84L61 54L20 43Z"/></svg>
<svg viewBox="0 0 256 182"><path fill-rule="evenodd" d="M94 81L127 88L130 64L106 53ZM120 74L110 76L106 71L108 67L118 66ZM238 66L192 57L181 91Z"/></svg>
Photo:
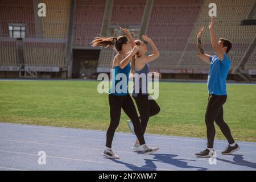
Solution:
<svg viewBox="0 0 256 182"><path fill-rule="evenodd" d="M149 100L148 97L150 96L141 93L137 97L133 97L138 106L143 134L146 131L148 119L160 112L160 107L156 101L153 99Z"/></svg>

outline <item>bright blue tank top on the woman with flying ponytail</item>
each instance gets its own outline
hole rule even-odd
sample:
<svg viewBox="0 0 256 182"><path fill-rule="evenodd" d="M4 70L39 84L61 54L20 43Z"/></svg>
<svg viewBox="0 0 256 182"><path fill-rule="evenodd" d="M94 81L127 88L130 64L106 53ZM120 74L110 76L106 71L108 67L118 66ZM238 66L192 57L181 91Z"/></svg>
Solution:
<svg viewBox="0 0 256 182"><path fill-rule="evenodd" d="M129 93L128 82L130 70L130 64L127 64L126 67L123 69L119 66L112 68L112 85L109 89L109 94L114 94L115 96L126 96ZM123 88L123 86L125 86L126 88Z"/></svg>

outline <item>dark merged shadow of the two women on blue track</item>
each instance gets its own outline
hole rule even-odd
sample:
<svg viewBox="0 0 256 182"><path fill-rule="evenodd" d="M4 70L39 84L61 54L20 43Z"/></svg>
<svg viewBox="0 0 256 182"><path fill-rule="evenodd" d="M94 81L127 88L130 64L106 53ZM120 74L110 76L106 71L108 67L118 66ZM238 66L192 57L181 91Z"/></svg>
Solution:
<svg viewBox="0 0 256 182"><path fill-rule="evenodd" d="M112 159L112 161L115 163L118 163L118 164L123 164L126 167L128 167L134 171L155 171L157 168L161 169L161 167L156 167L154 162L167 163L167 164L179 167L179 168L187 168L187 169L196 168L199 171L205 171L208 169L208 168L203 168L203 167L189 166L187 162L184 162L185 160L187 160L187 161L196 161L196 160L174 159L178 155L172 155L172 154L151 154L151 155L154 156L154 158L153 159L144 159L145 165L141 166L141 167L135 166L134 164L121 162L120 160Z"/></svg>

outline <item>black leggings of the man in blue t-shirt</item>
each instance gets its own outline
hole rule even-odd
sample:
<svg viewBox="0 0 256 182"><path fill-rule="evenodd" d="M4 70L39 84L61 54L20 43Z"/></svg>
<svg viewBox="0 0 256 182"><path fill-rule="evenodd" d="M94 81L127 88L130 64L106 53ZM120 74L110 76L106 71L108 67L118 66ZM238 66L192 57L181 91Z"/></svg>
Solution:
<svg viewBox="0 0 256 182"><path fill-rule="evenodd" d="M226 102L227 96L210 95L208 98L207 110L205 113L205 123L207 126L207 140L208 148L213 148L213 141L215 137L214 121L220 127L222 134L226 137L229 144L234 143L229 126L223 119L223 105Z"/></svg>

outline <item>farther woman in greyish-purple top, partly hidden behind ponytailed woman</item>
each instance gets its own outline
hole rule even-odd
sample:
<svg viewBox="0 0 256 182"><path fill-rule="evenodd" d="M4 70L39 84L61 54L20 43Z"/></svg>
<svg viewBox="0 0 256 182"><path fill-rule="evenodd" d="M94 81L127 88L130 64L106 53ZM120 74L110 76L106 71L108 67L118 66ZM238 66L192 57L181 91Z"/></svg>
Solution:
<svg viewBox="0 0 256 182"><path fill-rule="evenodd" d="M154 42L146 35L142 35L142 38L150 44L153 53L149 56L146 56L146 44L144 44L141 40L135 40L135 44L141 47L141 51L137 53L137 59L133 59L133 61L131 61L131 73L134 73L132 95L138 106L140 114L139 118L141 119L141 126L144 134L146 131L148 119L153 115L158 114L160 111L159 105L147 93L147 76L148 73L153 73L155 76L161 77L161 74L156 72L150 72L150 68L148 65L150 61L153 61L159 57L158 49L156 48ZM144 76L146 77L146 80L141 79L141 77L143 77L143 74L146 75ZM134 127L131 120L128 121L127 124L131 130L131 133L134 133ZM133 150L141 150L138 139L133 145Z"/></svg>

